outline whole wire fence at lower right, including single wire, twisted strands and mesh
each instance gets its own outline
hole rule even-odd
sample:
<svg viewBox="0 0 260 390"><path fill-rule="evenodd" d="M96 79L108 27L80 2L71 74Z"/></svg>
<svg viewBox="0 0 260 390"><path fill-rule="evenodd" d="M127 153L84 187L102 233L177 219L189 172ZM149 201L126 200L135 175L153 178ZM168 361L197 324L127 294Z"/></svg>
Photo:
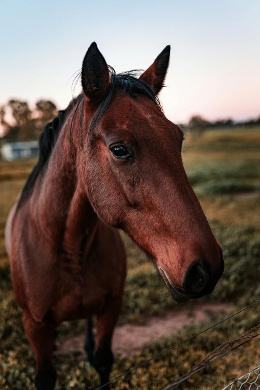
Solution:
<svg viewBox="0 0 260 390"><path fill-rule="evenodd" d="M162 354L164 354L164 353L166 353L166 352L168 352L168 351L170 351L170 350L172 350L172 349L174 349L174 348L180 346L180 345L183 344L183 343L186 343L186 342L189 341L189 340L192 340L193 338L195 338L195 337L201 335L201 334L204 333L204 332L207 332L208 330L210 330L210 329L212 329L212 328L215 328L217 325L219 325L219 324L221 324L221 323L223 323L223 322L229 320L230 318L232 318L232 317L234 317L234 316L236 316L236 315L238 315L238 314L244 312L245 310L247 310L247 309L253 307L254 305L256 305L256 304L258 304L258 303L260 303L260 300L258 300L258 301L256 301L256 302L252 303L251 305L245 307L244 309L239 310L238 312L236 312L236 313L230 315L229 317L224 318L223 320L221 320L221 321L217 322L216 324L214 324L214 325L212 325L212 326L210 326L210 327L204 329L203 331L201 331L201 332L199 332L199 333L196 333L195 335L192 335L192 336L189 337L188 339L183 340L183 341L181 341L180 343L177 343L177 344L175 344L175 345L173 345L173 346L167 348L166 350L160 352L159 354L153 356L153 357L150 358L150 359L147 359L145 362L140 363L138 366L133 367L132 369L128 370L127 372L125 372L125 373L119 375L118 377L114 378L114 379L111 380L110 382L108 382L108 383L106 383L106 384L104 384L104 385L102 385L102 386L96 388L95 390L100 390L100 389L103 389L103 388L107 387L108 385L110 385L110 384L112 384L112 383L118 381L120 378L123 378L125 375L130 374L130 373L133 372L134 370L137 370L138 368L140 368L140 367L144 366L145 364L151 362L152 360L158 358L158 357L161 356ZM170 390L170 389L173 389L173 388L177 387L180 383L184 382L186 379L190 378L192 375L194 375L194 374L198 373L199 371L203 370L205 367L210 366L211 364L213 364L213 363L216 362L217 360L221 359L222 357L228 355L231 351L234 351L235 349L239 348L240 346L242 346L242 345L248 343L250 340L252 340L252 339L254 339L254 338L260 336L260 333L254 333L254 332L256 332L256 330L259 329L259 328L260 328L260 325L258 325L258 326L256 326L256 327L252 328L250 331L248 331L248 332L245 333L243 336L241 336L241 337L239 337L239 338L237 338L237 339L229 340L229 341L223 343L221 346L217 347L214 351L212 351L209 355L207 355L207 356L206 356L201 362L199 362L196 366L194 366L186 375L184 375L183 377L178 378L177 380L175 380L174 382L172 382L170 385L168 385L168 386L167 386L166 388L164 388L163 390ZM252 334L252 333L254 333L254 334ZM255 370L257 370L257 369L258 369L258 368L256 368ZM251 374L251 372L248 373L248 374ZM244 377L246 377L248 374L246 374ZM244 377L241 377L241 378L244 378ZM237 381L239 381L239 380L240 380L240 379L234 381L233 383L235 383L235 382L237 382ZM232 383L232 384L233 384L233 383ZM230 386L232 386L232 384L230 384L229 387L226 387L225 389L232 389L232 390L234 390L235 388L230 387ZM244 384L241 384L241 386L244 386ZM248 385L247 385L247 386L248 386ZM250 386L251 386L251 385L250 385ZM253 386L253 385L252 385L252 386ZM248 389L250 389L250 390L260 389L260 385L259 385L258 387L257 387L257 386L256 386L256 387L252 387L252 386L251 386L251 387L245 387L245 388L241 388L241 387L240 387L240 388L238 388L238 389L241 389L241 390L242 390L242 389L243 389L243 390L248 390ZM255 385L254 385L254 386L255 386ZM223 390L224 390L224 389L223 389Z"/></svg>

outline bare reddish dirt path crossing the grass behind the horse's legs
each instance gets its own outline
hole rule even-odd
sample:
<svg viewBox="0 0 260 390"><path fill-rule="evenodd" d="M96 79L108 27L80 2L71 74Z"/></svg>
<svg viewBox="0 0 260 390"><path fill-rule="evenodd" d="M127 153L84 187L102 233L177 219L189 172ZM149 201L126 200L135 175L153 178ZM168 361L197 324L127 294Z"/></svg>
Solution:
<svg viewBox="0 0 260 390"><path fill-rule="evenodd" d="M122 356L139 351L145 344L155 341L159 337L169 336L173 332L181 330L192 323L203 323L207 320L207 313L213 314L229 312L232 305L222 304L201 304L192 309L184 309L178 312L166 312L164 317L151 317L147 324L125 324L115 330L113 350ZM83 345L85 333L66 337L57 340L57 354L69 354L70 352L81 352L85 354Z"/></svg>

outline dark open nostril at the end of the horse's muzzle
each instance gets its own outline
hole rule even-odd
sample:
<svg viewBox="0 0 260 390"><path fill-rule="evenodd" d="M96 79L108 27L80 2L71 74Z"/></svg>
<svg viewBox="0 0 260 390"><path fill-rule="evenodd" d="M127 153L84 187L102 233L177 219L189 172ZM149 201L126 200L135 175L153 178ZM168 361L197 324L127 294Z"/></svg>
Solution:
<svg viewBox="0 0 260 390"><path fill-rule="evenodd" d="M193 262L187 269L182 287L187 293L198 294L209 283L210 273L201 262Z"/></svg>

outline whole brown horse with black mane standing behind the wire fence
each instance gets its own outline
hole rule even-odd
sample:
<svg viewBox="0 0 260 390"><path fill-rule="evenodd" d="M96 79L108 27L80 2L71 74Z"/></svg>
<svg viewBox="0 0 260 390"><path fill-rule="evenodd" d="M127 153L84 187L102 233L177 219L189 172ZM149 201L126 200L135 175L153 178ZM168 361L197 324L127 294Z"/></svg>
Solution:
<svg viewBox="0 0 260 390"><path fill-rule="evenodd" d="M222 275L221 247L182 165L183 132L157 99L169 54L166 46L136 78L115 74L91 44L83 93L46 125L9 215L6 248L38 390L55 386L55 327L80 318L89 319L88 358L101 384L109 380L126 277L117 228L152 259L176 301L209 294Z"/></svg>

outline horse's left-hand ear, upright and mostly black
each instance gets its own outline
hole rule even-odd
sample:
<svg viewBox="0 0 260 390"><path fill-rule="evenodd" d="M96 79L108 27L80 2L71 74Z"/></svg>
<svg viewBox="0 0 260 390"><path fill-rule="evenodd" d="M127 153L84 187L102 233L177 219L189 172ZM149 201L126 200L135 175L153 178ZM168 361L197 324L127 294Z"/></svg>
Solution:
<svg viewBox="0 0 260 390"><path fill-rule="evenodd" d="M90 45L84 57L81 83L89 101L99 102L108 93L110 86L109 68L96 42Z"/></svg>

